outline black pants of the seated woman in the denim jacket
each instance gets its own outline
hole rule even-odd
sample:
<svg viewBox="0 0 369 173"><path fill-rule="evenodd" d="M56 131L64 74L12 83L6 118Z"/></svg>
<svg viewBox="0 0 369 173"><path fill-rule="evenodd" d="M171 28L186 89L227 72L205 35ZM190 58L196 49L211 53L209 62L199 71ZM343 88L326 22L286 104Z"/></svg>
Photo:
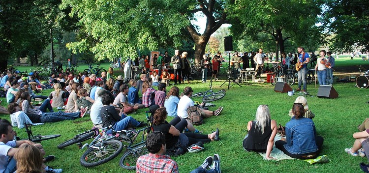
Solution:
<svg viewBox="0 0 369 173"><path fill-rule="evenodd" d="M318 150L315 152L310 152L310 153L305 153L305 154L292 154L290 152L288 152L285 148L284 148L284 144L287 144L287 142L285 141L276 141L276 148L280 149L281 151L283 151L285 154L287 154L288 156L295 158L295 159L313 159L316 158L320 151L322 150L322 145L323 145L324 139L321 136L316 136L315 137L315 143L316 145L318 145Z"/></svg>

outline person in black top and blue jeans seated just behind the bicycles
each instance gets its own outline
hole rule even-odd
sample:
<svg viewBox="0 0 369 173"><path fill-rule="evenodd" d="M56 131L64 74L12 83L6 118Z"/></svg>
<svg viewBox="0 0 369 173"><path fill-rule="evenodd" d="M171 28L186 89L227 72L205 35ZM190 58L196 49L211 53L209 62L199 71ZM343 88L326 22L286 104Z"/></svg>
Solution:
<svg viewBox="0 0 369 173"><path fill-rule="evenodd" d="M132 116L126 116L123 113L123 109L118 114L113 106L110 106L111 99L108 94L102 95L101 102L103 107L101 108L101 120L102 126L108 127L112 125L113 129L116 131L124 130L129 124L134 127L144 127L147 123L142 121L137 121Z"/></svg>

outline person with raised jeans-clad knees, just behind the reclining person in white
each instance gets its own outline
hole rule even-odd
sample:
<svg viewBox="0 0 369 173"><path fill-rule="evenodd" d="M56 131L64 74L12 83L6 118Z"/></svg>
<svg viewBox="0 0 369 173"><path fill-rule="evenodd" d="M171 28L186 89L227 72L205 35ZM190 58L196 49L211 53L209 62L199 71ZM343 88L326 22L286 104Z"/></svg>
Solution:
<svg viewBox="0 0 369 173"><path fill-rule="evenodd" d="M41 114L46 113L47 109L49 112L53 113L53 107L51 106L50 100L46 99L39 109L36 109L31 104L31 95L29 92L23 92L21 94L21 101L19 102L19 106L22 109L22 111L26 114Z"/></svg>

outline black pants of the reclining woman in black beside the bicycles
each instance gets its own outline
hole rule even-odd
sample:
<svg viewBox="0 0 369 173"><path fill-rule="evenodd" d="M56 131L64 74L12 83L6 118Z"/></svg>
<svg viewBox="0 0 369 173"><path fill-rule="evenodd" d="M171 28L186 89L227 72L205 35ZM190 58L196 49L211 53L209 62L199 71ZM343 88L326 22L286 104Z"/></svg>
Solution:
<svg viewBox="0 0 369 173"><path fill-rule="evenodd" d="M184 127L187 126L187 120L181 119L179 116L176 116L169 122L169 124L176 127L176 129L178 129L182 133L184 130ZM192 133L192 132L184 133L184 135L188 138L188 146L192 144L196 144L199 141L203 143L210 143L212 141L208 138L208 135Z"/></svg>

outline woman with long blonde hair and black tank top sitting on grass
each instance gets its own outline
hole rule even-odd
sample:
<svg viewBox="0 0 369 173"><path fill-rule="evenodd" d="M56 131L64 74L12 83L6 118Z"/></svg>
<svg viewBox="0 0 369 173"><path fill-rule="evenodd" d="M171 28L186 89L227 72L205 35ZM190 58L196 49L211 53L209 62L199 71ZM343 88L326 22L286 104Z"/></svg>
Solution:
<svg viewBox="0 0 369 173"><path fill-rule="evenodd" d="M267 105L260 105L257 108L255 120L247 123L247 131L243 142L244 149L248 152L266 153L267 159L274 159L270 153L277 134L277 122L270 118Z"/></svg>

